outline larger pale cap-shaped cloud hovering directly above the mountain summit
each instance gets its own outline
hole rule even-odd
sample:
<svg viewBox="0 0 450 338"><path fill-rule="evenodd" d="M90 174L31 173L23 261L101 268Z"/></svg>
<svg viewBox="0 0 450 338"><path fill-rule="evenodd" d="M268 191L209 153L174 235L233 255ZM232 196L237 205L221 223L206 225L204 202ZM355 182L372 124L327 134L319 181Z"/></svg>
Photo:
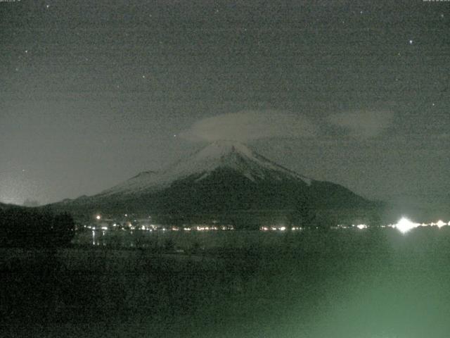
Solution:
<svg viewBox="0 0 450 338"><path fill-rule="evenodd" d="M313 137L316 127L303 115L281 111L240 111L204 118L180 137L191 141L249 141L267 137Z"/></svg>

